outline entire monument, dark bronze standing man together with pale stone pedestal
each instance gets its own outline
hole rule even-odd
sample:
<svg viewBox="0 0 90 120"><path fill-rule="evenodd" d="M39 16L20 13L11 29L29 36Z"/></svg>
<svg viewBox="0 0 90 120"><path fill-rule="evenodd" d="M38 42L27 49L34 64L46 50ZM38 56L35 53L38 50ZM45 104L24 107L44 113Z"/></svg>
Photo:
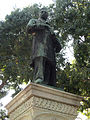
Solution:
<svg viewBox="0 0 90 120"><path fill-rule="evenodd" d="M10 120L75 120L77 117L82 97L55 89L55 53L61 50L61 45L47 17L48 13L42 9L39 19L31 19L27 25L27 33L33 36L34 78L6 105Z"/></svg>

